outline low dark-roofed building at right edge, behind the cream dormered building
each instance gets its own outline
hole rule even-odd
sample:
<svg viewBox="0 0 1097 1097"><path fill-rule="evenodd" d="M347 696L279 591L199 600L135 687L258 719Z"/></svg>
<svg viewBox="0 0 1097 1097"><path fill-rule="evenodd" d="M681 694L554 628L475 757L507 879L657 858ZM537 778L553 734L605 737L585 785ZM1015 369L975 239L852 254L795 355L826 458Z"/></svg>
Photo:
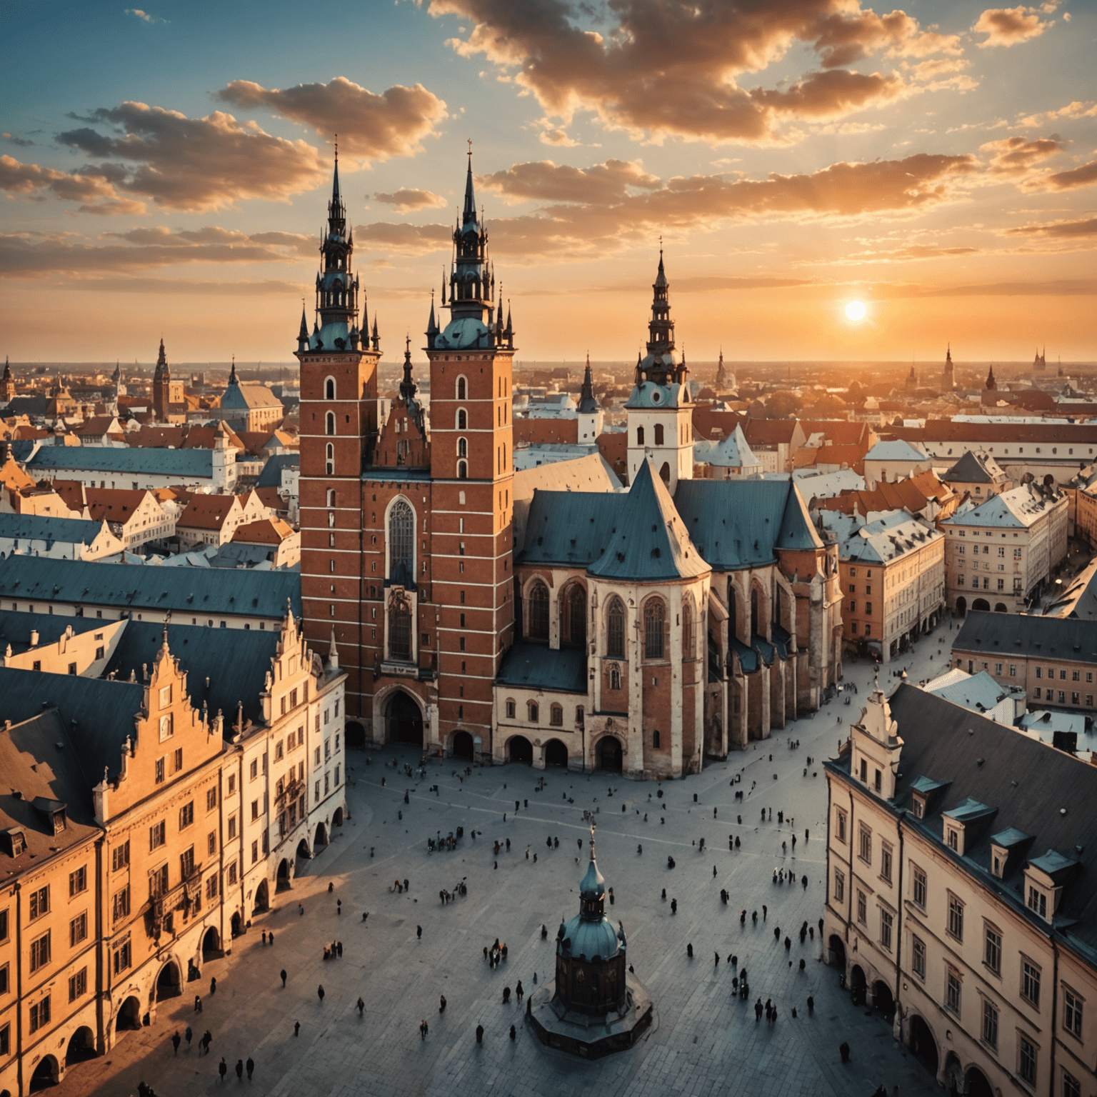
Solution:
<svg viewBox="0 0 1097 1097"><path fill-rule="evenodd" d="M952 666L985 670L1022 689L1036 709L1090 710L1097 689L1097 621L969 613L952 642Z"/></svg>

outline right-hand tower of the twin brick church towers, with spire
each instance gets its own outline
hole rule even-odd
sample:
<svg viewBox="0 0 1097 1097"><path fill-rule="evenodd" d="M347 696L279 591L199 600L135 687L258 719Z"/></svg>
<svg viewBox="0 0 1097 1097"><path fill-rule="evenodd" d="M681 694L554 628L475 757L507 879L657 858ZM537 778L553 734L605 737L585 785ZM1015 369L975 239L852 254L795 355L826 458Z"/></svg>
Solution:
<svg viewBox="0 0 1097 1097"><path fill-rule="evenodd" d="M491 683L513 640L514 337L476 212L472 154L441 330L431 305L433 597L438 603L438 738L454 753L490 757ZM446 291L449 301L446 301ZM468 738L472 738L472 743Z"/></svg>

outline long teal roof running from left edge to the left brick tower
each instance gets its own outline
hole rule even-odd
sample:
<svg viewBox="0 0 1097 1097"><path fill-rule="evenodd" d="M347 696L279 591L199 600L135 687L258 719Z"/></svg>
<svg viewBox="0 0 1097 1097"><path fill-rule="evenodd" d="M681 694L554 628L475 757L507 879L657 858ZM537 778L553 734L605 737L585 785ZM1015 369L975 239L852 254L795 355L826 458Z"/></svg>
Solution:
<svg viewBox="0 0 1097 1097"><path fill-rule="evenodd" d="M233 613L281 620L286 601L301 617L301 573L197 567L127 567L86 561L11 556L0 567L0 599L71 602L180 618ZM189 621L188 621L189 623Z"/></svg>

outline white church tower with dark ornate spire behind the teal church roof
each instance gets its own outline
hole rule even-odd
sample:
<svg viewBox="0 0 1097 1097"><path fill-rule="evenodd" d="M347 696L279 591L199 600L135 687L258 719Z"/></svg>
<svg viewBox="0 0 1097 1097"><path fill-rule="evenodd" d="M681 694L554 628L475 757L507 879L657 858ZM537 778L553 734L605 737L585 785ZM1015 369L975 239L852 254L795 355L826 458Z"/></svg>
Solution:
<svg viewBox="0 0 1097 1097"><path fill-rule="evenodd" d="M629 414L629 483L651 457L674 495L680 479L693 478L693 406L686 384L688 371L675 350L669 284L659 249L659 270L652 284L652 319L647 354L636 358L636 377L625 404Z"/></svg>

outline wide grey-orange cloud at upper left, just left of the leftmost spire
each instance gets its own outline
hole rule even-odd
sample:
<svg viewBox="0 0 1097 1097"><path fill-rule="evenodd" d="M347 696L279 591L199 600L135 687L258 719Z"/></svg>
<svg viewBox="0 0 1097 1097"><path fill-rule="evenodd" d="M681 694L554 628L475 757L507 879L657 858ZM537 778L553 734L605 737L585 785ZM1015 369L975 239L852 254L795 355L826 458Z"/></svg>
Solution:
<svg viewBox="0 0 1097 1097"><path fill-rule="evenodd" d="M58 134L57 140L108 161L84 173L166 210L202 212L256 197L284 201L327 177L312 145L272 137L222 111L189 118L127 102L81 121L92 125ZM97 125L117 127L123 136L104 136Z"/></svg>

